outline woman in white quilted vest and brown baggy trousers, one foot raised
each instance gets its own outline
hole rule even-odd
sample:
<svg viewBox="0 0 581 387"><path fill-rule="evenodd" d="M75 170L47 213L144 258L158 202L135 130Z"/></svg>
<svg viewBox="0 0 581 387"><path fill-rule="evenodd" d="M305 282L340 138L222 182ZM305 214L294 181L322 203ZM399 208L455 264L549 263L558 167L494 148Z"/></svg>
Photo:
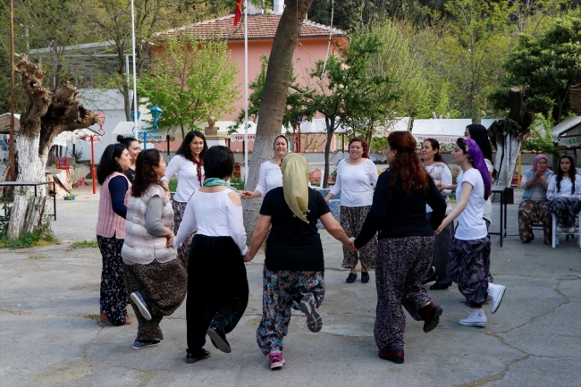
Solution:
<svg viewBox="0 0 581 387"><path fill-rule="evenodd" d="M123 276L139 323L133 349L158 345L164 315L181 306L188 290L186 266L173 248L173 208L159 180L165 162L157 149L139 154L121 251Z"/></svg>

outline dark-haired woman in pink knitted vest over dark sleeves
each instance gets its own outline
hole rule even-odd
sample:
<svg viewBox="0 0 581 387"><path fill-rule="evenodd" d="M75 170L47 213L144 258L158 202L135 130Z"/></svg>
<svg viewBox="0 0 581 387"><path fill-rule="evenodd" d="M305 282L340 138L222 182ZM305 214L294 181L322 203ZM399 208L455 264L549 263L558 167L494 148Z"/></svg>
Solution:
<svg viewBox="0 0 581 387"><path fill-rule="evenodd" d="M131 182L123 174L131 165L129 151L123 144L105 147L97 167L101 185L97 243L103 258L101 272L101 321L114 325L131 324L127 315L127 294L123 281L121 249L125 239L125 217Z"/></svg>

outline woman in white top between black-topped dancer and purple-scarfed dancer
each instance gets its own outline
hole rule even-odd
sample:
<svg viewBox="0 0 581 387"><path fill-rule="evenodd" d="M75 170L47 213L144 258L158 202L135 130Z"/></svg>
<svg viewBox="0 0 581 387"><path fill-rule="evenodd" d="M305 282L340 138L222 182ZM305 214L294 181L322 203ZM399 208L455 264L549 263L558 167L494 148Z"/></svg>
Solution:
<svg viewBox="0 0 581 387"><path fill-rule="evenodd" d="M452 183L452 172L442 159L440 154L440 143L436 139L426 139L422 143L422 159L425 171L432 177L436 187L440 183L450 185ZM450 206L451 189L440 189L442 197L446 201L446 215L450 214L452 210ZM427 218L432 218L432 208L425 205L425 212ZM446 273L448 267L448 251L450 250L450 243L454 237L454 223L448 226L435 238L434 242L434 256L432 257L432 265L435 267L436 282L430 286L430 290L448 289L452 284L452 280ZM431 281L434 281L431 279Z"/></svg>

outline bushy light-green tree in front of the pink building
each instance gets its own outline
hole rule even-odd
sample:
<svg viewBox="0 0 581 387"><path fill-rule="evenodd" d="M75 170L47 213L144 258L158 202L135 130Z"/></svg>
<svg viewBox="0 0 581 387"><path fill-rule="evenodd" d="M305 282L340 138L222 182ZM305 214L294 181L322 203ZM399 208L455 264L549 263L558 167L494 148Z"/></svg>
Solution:
<svg viewBox="0 0 581 387"><path fill-rule="evenodd" d="M185 129L208 115L232 113L240 98L236 73L225 41L198 41L174 36L160 42L162 50L152 63L152 71L138 80L138 95L147 98L147 107L163 106L160 127Z"/></svg>

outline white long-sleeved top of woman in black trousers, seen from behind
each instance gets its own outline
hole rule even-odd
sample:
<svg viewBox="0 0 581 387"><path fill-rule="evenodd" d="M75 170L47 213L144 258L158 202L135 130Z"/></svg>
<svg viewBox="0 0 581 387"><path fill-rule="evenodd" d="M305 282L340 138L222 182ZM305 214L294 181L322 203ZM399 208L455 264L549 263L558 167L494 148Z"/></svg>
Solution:
<svg viewBox="0 0 581 387"><path fill-rule="evenodd" d="M198 227L198 234L206 237L232 237L240 248L240 255L247 252L246 231L242 221L242 206L236 206L228 198L232 189L220 192L196 191L183 213L180 229L173 240L177 248Z"/></svg>

